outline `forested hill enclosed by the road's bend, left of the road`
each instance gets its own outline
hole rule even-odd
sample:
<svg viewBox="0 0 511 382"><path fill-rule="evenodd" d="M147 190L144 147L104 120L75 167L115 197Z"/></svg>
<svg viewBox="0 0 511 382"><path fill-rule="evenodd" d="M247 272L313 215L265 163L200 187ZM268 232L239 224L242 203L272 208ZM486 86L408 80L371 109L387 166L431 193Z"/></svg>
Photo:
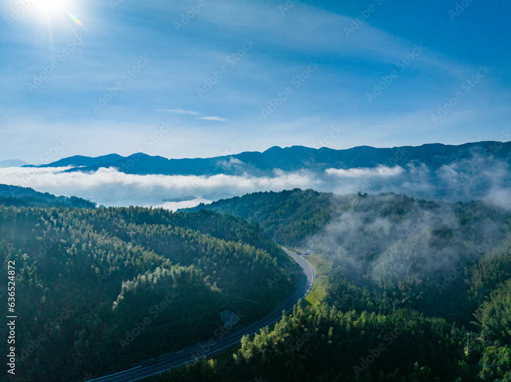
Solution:
<svg viewBox="0 0 511 382"><path fill-rule="evenodd" d="M13 207L27 204L0 206L1 278L16 264L16 380L129 368L212 336L223 310L242 324L264 316L301 281L297 264L241 218ZM270 288L274 272L285 277ZM3 324L2 349L7 330Z"/></svg>

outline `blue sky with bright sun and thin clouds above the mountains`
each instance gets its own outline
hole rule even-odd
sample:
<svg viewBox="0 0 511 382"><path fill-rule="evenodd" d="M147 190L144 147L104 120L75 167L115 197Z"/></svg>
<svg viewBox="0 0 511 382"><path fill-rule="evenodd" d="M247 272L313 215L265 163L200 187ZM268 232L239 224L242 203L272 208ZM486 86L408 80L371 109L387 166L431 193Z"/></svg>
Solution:
<svg viewBox="0 0 511 382"><path fill-rule="evenodd" d="M508 133L509 3L337 3L6 0L0 160Z"/></svg>

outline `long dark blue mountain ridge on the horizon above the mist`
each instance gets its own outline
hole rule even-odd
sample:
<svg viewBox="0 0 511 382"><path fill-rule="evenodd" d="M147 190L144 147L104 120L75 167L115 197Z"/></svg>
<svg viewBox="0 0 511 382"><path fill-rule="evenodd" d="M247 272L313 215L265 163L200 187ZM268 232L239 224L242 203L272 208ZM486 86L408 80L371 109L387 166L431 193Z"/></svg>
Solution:
<svg viewBox="0 0 511 382"><path fill-rule="evenodd" d="M74 156L37 167L74 166L66 170L68 172L88 172L96 171L101 167L114 167L124 173L140 175L242 175L245 173L268 175L275 169L324 171L327 168L375 168L382 165L403 167L413 162L424 163L430 169L436 170L446 164L471 159L474 155L492 156L509 165L511 164L511 142L484 141L462 145L431 143L393 148L357 146L342 150L327 147L317 149L305 146L285 148L273 146L263 152L245 151L230 156L194 159L167 159L139 152L129 157L118 154L97 158Z"/></svg>

